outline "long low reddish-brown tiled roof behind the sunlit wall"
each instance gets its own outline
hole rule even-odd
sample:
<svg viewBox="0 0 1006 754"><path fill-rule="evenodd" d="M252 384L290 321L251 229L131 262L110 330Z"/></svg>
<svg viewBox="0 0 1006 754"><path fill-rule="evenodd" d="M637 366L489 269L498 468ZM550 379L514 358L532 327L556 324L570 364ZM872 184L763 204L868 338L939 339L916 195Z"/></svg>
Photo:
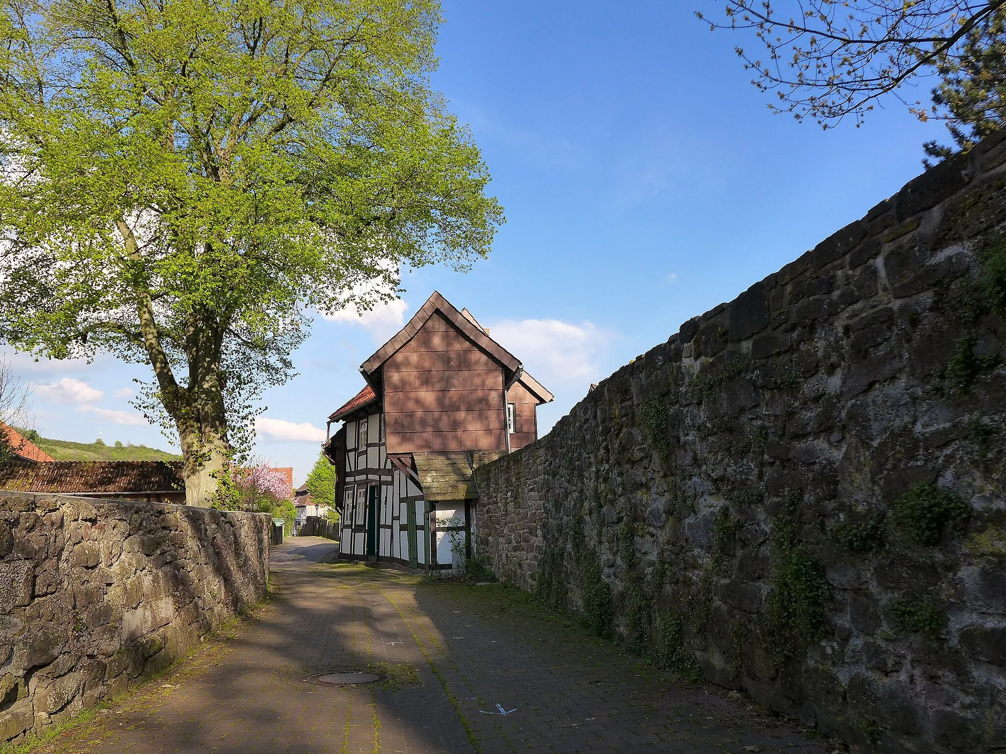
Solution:
<svg viewBox="0 0 1006 754"><path fill-rule="evenodd" d="M0 489L24 493L182 492L181 461L22 461L0 467Z"/></svg>

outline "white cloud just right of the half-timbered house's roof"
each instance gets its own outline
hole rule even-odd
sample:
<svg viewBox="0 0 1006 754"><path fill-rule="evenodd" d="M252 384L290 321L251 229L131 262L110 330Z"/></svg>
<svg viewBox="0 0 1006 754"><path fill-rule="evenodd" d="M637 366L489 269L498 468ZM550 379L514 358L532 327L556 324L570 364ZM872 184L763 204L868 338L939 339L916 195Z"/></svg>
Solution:
<svg viewBox="0 0 1006 754"><path fill-rule="evenodd" d="M590 322L571 325L559 320L504 320L492 325L490 334L546 388L549 383L596 378L595 359L612 339Z"/></svg>

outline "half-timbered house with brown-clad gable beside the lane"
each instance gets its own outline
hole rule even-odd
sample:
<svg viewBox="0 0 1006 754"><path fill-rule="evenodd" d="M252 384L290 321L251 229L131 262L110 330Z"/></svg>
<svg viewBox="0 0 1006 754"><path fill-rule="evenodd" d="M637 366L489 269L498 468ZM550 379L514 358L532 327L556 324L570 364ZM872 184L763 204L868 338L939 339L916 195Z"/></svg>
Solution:
<svg viewBox="0 0 1006 754"><path fill-rule="evenodd" d="M426 570L470 549L477 465L533 442L552 395L468 310L438 293L360 367L366 386L328 418L340 557ZM461 554L462 556L465 553Z"/></svg>

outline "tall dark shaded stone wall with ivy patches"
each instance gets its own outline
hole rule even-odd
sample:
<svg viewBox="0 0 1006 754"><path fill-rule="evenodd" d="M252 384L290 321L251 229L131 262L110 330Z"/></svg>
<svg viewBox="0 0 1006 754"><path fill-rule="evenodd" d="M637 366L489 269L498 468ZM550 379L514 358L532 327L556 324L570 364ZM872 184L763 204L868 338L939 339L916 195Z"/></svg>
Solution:
<svg viewBox="0 0 1006 754"><path fill-rule="evenodd" d="M885 752L1006 750L1006 141L477 469L496 572Z"/></svg>

